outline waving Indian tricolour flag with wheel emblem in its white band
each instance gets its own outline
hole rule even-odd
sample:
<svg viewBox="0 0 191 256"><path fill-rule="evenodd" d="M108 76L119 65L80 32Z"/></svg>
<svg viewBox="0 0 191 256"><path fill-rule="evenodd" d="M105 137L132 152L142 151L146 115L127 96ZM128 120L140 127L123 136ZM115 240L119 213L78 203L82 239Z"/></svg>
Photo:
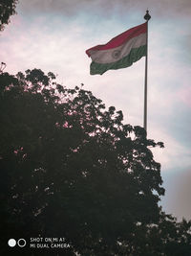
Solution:
<svg viewBox="0 0 191 256"><path fill-rule="evenodd" d="M92 58L90 74L102 75L109 69L131 66L146 56L146 22L117 35L106 44L96 45L86 51Z"/></svg>

